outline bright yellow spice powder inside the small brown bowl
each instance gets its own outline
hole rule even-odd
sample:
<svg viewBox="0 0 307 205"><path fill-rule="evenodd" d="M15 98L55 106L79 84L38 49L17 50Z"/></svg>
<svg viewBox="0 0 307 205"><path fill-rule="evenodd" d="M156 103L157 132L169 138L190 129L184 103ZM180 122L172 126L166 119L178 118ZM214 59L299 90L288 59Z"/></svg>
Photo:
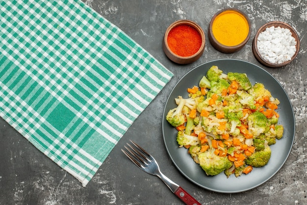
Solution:
<svg viewBox="0 0 307 205"><path fill-rule="evenodd" d="M247 37L249 24L242 14L232 10L224 11L213 21L212 33L221 44L236 46Z"/></svg>

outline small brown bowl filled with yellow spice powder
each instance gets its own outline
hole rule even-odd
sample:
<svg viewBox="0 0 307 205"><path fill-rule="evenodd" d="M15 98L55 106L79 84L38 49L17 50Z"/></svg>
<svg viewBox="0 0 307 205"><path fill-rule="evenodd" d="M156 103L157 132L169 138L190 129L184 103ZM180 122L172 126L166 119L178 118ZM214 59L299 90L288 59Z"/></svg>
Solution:
<svg viewBox="0 0 307 205"><path fill-rule="evenodd" d="M211 19L208 38L211 45L223 53L239 51L251 36L248 16L236 8L218 11Z"/></svg>

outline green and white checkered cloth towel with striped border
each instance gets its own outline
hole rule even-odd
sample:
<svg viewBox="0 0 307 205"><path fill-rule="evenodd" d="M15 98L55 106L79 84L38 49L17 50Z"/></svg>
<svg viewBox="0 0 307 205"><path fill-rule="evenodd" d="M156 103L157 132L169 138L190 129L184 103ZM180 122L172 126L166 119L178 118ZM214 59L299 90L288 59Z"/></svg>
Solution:
<svg viewBox="0 0 307 205"><path fill-rule="evenodd" d="M0 0L0 116L83 186L172 76L80 0Z"/></svg>

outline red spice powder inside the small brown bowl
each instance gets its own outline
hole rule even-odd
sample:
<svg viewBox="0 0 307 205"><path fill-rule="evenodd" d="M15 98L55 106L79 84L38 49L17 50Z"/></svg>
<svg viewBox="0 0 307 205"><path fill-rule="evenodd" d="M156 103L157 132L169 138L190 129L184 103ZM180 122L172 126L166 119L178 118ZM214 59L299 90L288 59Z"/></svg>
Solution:
<svg viewBox="0 0 307 205"><path fill-rule="evenodd" d="M201 48L202 36L194 27L178 25L170 30L167 44L174 54L188 57L194 55Z"/></svg>

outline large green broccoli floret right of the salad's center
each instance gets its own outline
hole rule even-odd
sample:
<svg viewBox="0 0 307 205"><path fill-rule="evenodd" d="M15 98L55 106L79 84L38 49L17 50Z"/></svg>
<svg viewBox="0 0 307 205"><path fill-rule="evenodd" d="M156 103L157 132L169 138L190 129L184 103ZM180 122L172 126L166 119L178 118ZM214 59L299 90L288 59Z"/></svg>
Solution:
<svg viewBox="0 0 307 205"><path fill-rule="evenodd" d="M259 136L269 130L269 120L262 113L256 111L248 116L248 129L254 136Z"/></svg>

